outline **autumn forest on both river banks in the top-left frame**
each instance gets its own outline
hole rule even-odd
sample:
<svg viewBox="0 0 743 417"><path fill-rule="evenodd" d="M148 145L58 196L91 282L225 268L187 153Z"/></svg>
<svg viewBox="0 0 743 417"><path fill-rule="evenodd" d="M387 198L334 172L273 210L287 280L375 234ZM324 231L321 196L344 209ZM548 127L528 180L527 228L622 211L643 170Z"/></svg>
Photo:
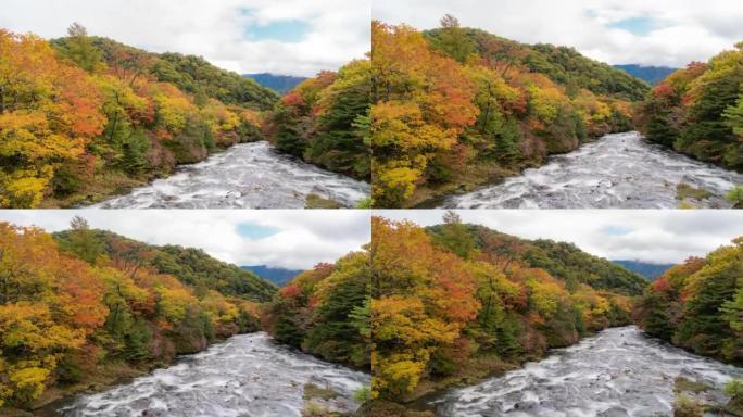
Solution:
<svg viewBox="0 0 743 417"><path fill-rule="evenodd" d="M285 98L179 53L150 53L74 24L51 41L0 30L0 206L71 207L143 186L180 164L267 139L368 179L368 61Z"/></svg>

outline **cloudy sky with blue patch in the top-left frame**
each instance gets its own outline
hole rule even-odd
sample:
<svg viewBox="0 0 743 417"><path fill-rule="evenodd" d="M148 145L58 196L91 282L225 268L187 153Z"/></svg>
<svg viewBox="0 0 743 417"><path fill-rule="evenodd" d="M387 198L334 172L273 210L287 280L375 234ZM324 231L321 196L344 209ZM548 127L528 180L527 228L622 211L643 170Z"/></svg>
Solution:
<svg viewBox="0 0 743 417"><path fill-rule="evenodd" d="M73 22L240 74L313 76L370 48L370 0L2 0L0 27L61 37Z"/></svg>

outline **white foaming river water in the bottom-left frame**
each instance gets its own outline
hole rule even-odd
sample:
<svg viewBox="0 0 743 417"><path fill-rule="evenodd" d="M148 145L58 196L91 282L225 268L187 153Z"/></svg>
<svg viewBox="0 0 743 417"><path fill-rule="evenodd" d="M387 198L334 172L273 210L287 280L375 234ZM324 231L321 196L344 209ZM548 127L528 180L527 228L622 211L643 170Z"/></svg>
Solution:
<svg viewBox="0 0 743 417"><path fill-rule="evenodd" d="M70 417L299 417L306 382L330 388L339 412L369 376L290 351L263 332L236 336L131 383L83 395L59 410Z"/></svg>

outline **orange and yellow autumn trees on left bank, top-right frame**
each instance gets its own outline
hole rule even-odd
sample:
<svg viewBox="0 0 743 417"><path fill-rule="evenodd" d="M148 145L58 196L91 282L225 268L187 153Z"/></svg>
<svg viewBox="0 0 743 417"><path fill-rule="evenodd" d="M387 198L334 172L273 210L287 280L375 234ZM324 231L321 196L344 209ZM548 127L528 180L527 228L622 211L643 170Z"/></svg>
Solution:
<svg viewBox="0 0 743 417"><path fill-rule="evenodd" d="M632 128L648 87L547 45L525 46L445 16L442 28L373 23L374 204L410 206L539 165Z"/></svg>

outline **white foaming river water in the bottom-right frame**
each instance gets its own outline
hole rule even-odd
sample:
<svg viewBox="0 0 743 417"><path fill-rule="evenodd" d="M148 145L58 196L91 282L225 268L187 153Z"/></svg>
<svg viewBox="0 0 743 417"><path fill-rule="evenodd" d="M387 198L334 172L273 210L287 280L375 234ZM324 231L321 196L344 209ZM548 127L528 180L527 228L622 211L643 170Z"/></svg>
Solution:
<svg viewBox="0 0 743 417"><path fill-rule="evenodd" d="M716 389L709 395L725 401L719 390L743 368L658 343L635 327L614 328L435 403L442 417L670 416L679 376L708 383Z"/></svg>

